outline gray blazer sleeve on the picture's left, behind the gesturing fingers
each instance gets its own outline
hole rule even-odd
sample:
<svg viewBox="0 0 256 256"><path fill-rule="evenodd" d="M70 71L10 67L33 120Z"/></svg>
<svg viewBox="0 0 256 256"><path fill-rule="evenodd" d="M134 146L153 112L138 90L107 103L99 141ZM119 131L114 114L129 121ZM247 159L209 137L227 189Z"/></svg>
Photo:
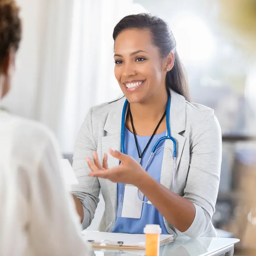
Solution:
<svg viewBox="0 0 256 256"><path fill-rule="evenodd" d="M90 109L78 133L73 156L73 169L79 184L72 186L72 193L83 205L84 219L82 227L84 229L90 226L94 218L100 194L98 178L88 177L91 170L85 159L86 157L93 158L93 150L96 151L97 146L93 139L92 109Z"/></svg>

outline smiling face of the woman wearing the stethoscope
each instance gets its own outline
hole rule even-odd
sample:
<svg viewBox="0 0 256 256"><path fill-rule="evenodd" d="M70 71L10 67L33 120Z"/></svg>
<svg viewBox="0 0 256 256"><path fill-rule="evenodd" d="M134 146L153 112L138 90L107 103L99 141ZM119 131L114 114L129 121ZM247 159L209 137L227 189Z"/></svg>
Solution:
<svg viewBox="0 0 256 256"><path fill-rule="evenodd" d="M130 103L166 93L166 67L149 30L126 29L115 40L115 77Z"/></svg>

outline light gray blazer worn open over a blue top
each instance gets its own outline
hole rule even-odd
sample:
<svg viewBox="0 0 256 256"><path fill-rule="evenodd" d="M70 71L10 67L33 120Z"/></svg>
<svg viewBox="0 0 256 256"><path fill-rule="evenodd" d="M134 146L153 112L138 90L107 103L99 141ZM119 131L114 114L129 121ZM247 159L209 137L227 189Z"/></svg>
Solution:
<svg viewBox="0 0 256 256"><path fill-rule="evenodd" d="M174 91L171 93L170 129L177 142L176 174L174 192L189 199L195 205L195 219L189 229L179 232L164 218L170 234L197 238L217 237L211 218L215 211L220 182L222 156L221 130L213 110L200 104L192 104ZM121 150L121 116L125 98L110 104L90 109L77 136L73 158L73 169L79 180L72 193L82 202L84 208L83 228L87 228L99 202L99 193L105 201L105 211L99 230L111 232L117 212L117 184L109 180L88 177L86 157L93 157L96 150L100 161L111 147ZM165 146L172 149L171 140ZM117 166L119 160L108 155L109 168ZM161 184L172 187L173 159L170 151L164 149ZM170 209L171 211L172 209Z"/></svg>

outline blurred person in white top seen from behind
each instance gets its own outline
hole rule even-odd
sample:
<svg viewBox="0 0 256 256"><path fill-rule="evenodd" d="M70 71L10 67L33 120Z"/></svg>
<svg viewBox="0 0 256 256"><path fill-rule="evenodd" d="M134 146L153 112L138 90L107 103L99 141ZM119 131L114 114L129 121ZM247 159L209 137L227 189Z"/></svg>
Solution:
<svg viewBox="0 0 256 256"><path fill-rule="evenodd" d="M0 101L21 37L14 0L0 0ZM87 255L49 130L0 110L0 255Z"/></svg>

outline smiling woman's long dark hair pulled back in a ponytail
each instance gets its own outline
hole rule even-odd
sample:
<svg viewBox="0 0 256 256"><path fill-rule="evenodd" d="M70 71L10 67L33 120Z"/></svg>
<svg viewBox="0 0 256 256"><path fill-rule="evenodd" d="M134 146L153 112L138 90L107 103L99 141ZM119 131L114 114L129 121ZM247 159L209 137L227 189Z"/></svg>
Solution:
<svg viewBox="0 0 256 256"><path fill-rule="evenodd" d="M176 41L168 23L161 18L148 13L128 15L116 24L113 31L114 41L120 32L129 28L150 30L152 34L152 42L156 47L158 47L161 57L167 57L171 51L174 53L174 66L166 74L166 89L168 90L171 88L189 101L190 95L187 75L176 51Z"/></svg>

